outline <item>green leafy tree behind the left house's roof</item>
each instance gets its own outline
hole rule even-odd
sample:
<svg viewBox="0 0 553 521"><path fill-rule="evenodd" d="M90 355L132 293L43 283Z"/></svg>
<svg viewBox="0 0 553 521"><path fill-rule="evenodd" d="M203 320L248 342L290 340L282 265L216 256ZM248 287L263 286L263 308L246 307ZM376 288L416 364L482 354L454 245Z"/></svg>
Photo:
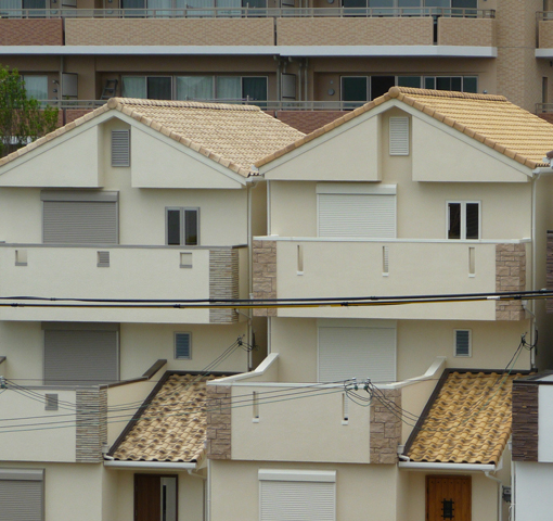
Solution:
<svg viewBox="0 0 553 521"><path fill-rule="evenodd" d="M0 157L55 130L57 109L27 98L17 69L0 65Z"/></svg>

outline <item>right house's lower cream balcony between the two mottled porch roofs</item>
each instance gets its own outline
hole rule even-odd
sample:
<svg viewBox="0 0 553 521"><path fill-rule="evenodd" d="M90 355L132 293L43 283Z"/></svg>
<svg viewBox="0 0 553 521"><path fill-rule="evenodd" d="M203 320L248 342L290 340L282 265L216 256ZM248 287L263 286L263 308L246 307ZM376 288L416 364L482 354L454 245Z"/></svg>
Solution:
<svg viewBox="0 0 553 521"><path fill-rule="evenodd" d="M210 402L208 457L219 459L222 449L229 459L237 460L393 465L398 445L411 433L412 421L403 422L400 415L390 414L389 403L397 410L421 415L443 367L440 358L422 377L378 385L366 406L368 402L348 397L353 386L347 382L280 381L279 354L271 354L253 372L208 384L208 396L209 389L226 395ZM369 391L358 383L356 393L369 399ZM230 432L222 432L224 422Z"/></svg>

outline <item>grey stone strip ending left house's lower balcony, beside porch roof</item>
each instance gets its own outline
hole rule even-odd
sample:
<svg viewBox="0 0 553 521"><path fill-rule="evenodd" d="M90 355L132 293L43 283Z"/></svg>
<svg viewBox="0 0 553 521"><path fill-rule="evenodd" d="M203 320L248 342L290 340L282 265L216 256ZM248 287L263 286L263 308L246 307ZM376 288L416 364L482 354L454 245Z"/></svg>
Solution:
<svg viewBox="0 0 553 521"><path fill-rule="evenodd" d="M103 461L102 446L107 443L107 391L77 390L78 463Z"/></svg>

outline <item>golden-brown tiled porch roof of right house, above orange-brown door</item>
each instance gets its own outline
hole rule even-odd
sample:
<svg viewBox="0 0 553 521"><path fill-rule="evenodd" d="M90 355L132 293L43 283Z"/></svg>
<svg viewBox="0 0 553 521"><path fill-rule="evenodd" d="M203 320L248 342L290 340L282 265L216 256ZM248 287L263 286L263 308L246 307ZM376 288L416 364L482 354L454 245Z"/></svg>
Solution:
<svg viewBox="0 0 553 521"><path fill-rule="evenodd" d="M498 463L511 436L513 380L519 374L451 372L407 455L412 461Z"/></svg>

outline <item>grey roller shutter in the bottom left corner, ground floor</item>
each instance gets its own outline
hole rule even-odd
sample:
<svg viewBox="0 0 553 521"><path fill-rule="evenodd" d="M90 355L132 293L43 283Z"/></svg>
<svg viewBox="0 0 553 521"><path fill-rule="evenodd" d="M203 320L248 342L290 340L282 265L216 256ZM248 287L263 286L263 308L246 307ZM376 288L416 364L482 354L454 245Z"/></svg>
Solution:
<svg viewBox="0 0 553 521"><path fill-rule="evenodd" d="M42 482L0 480L0 521L40 521Z"/></svg>

